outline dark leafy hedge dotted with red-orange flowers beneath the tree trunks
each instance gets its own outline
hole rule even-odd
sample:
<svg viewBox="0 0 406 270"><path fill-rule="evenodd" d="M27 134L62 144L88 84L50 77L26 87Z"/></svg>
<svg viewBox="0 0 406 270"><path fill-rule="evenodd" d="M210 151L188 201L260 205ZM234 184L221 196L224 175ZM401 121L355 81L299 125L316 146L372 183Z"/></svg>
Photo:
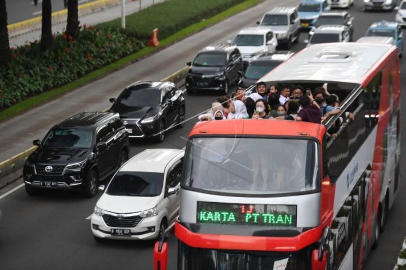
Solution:
<svg viewBox="0 0 406 270"><path fill-rule="evenodd" d="M12 62L0 69L0 110L70 83L143 47L118 30L91 26L84 26L78 41L64 33L55 35L53 46L45 53L40 52L38 41L10 49Z"/></svg>

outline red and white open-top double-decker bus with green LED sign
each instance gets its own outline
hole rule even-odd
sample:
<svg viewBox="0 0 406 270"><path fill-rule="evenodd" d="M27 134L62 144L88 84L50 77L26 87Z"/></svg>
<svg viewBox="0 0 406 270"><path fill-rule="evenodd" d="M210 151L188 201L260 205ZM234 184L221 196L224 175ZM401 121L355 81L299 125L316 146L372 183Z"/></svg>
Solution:
<svg viewBox="0 0 406 270"><path fill-rule="evenodd" d="M397 49L314 45L262 81L327 83L341 111L323 124L196 124L174 225L177 269L360 269L399 187ZM163 238L155 269L166 269L167 252Z"/></svg>

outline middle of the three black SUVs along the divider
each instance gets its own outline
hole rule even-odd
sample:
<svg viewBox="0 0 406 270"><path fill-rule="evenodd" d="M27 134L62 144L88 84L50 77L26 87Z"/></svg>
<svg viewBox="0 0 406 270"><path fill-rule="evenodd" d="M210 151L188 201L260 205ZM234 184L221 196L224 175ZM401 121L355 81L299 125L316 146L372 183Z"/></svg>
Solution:
<svg viewBox="0 0 406 270"><path fill-rule="evenodd" d="M135 82L110 102L110 111L120 114L130 138L162 142L166 130L184 125L185 97L172 82Z"/></svg>

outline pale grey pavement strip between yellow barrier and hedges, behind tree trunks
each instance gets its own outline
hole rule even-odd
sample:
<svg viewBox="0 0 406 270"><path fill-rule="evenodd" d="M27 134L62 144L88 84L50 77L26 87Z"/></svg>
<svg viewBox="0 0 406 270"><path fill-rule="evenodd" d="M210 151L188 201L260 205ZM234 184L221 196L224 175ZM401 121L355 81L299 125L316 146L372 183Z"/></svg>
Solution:
<svg viewBox="0 0 406 270"><path fill-rule="evenodd" d="M62 1L62 0L61 0ZM132 13L136 13L140 11L140 3L141 3L141 9L146 9L150 6L152 6L152 3L158 4L162 3L165 0L138 0L138 1L131 1L127 0L125 4L125 14L129 15ZM89 14L86 16L79 17L80 25L86 24L86 25L94 25L100 22L106 22L106 21L111 21L116 18L121 18L121 5L115 6L103 11L98 11L93 14ZM52 25L52 32L57 33L57 32L62 32L63 29L66 27L66 22L61 22L58 24ZM23 45L26 41L35 41L35 40L40 40L41 38L41 29L35 30L32 32L28 32L25 34L21 34L18 36L14 36L10 38L10 47L16 47Z"/></svg>

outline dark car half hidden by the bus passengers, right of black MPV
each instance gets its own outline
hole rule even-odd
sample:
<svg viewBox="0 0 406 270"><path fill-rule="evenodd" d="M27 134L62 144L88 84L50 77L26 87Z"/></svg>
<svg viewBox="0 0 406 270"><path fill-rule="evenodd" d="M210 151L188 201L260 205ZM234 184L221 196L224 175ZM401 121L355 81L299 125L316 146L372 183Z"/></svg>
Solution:
<svg viewBox="0 0 406 270"><path fill-rule="evenodd" d="M252 59L244 72L239 86L242 88L250 87L293 54L292 52L267 53Z"/></svg>

